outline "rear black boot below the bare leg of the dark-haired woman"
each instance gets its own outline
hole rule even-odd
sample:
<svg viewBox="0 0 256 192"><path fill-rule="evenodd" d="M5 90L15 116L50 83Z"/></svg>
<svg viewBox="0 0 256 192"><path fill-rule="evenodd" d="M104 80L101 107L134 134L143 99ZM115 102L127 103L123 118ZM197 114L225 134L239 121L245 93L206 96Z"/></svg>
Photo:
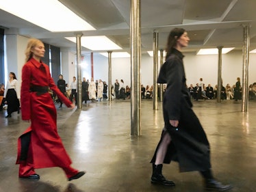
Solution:
<svg viewBox="0 0 256 192"><path fill-rule="evenodd" d="M171 180L166 180L166 178L164 178L164 176L162 175L162 168L163 165L155 165L154 163L152 163L153 166L153 174L151 176L151 182L154 184L163 184L166 186L175 186L175 182L171 181Z"/></svg>

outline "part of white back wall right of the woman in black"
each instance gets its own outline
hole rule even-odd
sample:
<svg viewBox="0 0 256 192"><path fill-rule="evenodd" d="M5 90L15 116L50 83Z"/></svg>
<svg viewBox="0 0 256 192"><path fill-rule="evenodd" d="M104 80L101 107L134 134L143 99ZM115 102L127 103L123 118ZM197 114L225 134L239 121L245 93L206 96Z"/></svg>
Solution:
<svg viewBox="0 0 256 192"><path fill-rule="evenodd" d="M187 84L195 85L199 83L199 78L203 78L203 82L216 85L218 82L218 55L194 55L192 53L184 54L185 74ZM249 55L249 78L248 83L256 82L256 55ZM242 80L242 51L233 51L222 55L222 81L226 86L235 84L237 77Z"/></svg>

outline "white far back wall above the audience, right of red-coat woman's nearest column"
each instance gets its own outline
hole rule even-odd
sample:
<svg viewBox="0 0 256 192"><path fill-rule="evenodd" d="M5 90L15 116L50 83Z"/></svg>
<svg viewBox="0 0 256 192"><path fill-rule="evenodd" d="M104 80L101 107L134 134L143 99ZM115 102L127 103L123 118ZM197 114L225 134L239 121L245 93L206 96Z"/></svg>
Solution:
<svg viewBox="0 0 256 192"><path fill-rule="evenodd" d="M199 83L199 78L203 78L205 85L214 85L218 82L218 55L195 55L194 53L184 53L183 59L187 84L195 85ZM159 59L158 59L159 61ZM236 78L242 80L242 51L233 51L222 55L222 81L234 85ZM90 54L86 55L83 61L82 77L90 79L91 66ZM94 53L94 80L108 78L108 59L102 55ZM129 58L112 58L112 84L115 79L123 79L125 85L131 85L131 61ZM142 55L141 64L142 84L153 85L153 57ZM256 82L256 54L249 55L249 79L248 83Z"/></svg>

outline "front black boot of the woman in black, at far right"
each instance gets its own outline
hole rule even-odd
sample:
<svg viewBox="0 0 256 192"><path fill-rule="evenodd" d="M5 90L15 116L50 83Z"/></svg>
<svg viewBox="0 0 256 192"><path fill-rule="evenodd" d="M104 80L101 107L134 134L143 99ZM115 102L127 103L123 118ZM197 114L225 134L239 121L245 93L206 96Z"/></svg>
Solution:
<svg viewBox="0 0 256 192"><path fill-rule="evenodd" d="M231 184L222 184L214 179L212 176L211 169L201 172L203 178L205 178L205 189L206 190L215 190L215 191L227 191L232 189Z"/></svg>

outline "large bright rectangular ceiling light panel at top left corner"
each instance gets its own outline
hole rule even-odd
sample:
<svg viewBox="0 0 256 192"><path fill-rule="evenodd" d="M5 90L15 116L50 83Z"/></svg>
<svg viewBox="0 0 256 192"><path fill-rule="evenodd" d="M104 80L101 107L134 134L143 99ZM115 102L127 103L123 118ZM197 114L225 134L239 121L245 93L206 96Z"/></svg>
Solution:
<svg viewBox="0 0 256 192"><path fill-rule="evenodd" d="M0 8L52 32L95 30L57 0L0 0Z"/></svg>

